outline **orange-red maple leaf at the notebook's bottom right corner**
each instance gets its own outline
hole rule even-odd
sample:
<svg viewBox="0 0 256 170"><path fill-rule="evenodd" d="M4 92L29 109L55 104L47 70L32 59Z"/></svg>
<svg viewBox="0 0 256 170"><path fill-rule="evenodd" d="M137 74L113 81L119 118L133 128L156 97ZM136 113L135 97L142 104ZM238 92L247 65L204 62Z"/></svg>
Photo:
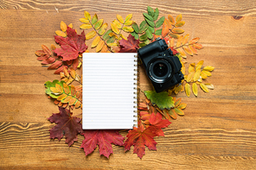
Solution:
<svg viewBox="0 0 256 170"><path fill-rule="evenodd" d="M144 126L141 125L139 128L133 128L126 135L125 151L130 150L131 146L134 145L133 153L138 154L138 157L142 158L145 154L145 146L150 150L157 150L157 142L153 139L155 136L157 134L150 127L144 129Z"/></svg>

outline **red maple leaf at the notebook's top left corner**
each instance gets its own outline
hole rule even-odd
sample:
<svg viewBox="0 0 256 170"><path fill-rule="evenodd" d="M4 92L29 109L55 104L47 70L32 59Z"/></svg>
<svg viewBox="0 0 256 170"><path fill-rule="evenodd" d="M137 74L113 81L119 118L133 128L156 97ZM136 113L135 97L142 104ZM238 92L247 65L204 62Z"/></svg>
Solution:
<svg viewBox="0 0 256 170"><path fill-rule="evenodd" d="M54 38L61 45L61 48L56 48L54 53L62 56L63 60L75 60L79 54L84 53L87 49L84 31L81 35L77 35L75 29L67 27L67 38L59 35L54 35Z"/></svg>

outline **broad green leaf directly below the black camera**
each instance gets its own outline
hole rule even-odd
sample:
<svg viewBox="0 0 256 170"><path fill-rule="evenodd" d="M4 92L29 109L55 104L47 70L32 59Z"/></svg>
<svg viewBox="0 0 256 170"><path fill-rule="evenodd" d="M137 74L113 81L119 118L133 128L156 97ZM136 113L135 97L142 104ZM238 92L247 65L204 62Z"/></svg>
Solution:
<svg viewBox="0 0 256 170"><path fill-rule="evenodd" d="M157 104L157 107L160 110L167 109L174 107L173 98L168 96L167 91L163 92L156 92L156 91L144 91L144 94L147 98L150 99L152 104Z"/></svg>

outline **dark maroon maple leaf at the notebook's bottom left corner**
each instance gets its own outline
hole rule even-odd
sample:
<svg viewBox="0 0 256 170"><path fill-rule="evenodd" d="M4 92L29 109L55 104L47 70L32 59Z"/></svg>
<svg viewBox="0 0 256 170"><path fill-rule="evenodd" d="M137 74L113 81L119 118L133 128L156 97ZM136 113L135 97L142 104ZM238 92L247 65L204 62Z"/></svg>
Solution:
<svg viewBox="0 0 256 170"><path fill-rule="evenodd" d="M49 129L50 138L58 138L61 141L63 135L66 136L66 142L70 147L77 141L77 135L82 133L80 118L72 116L70 110L59 107L60 113L53 114L48 118L51 123L56 123L54 128Z"/></svg>

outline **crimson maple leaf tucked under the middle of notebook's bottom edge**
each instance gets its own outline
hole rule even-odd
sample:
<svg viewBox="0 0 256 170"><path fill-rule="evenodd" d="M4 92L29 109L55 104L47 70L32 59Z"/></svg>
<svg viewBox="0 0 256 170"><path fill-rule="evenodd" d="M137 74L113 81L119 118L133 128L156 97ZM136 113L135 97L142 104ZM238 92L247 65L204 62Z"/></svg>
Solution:
<svg viewBox="0 0 256 170"><path fill-rule="evenodd" d="M99 154L103 154L107 158L113 153L112 143L119 146L124 146L124 139L118 133L118 130L112 129L97 129L97 130L84 130L81 134L85 136L80 148L84 148L86 155L91 154L93 150L99 145Z"/></svg>

